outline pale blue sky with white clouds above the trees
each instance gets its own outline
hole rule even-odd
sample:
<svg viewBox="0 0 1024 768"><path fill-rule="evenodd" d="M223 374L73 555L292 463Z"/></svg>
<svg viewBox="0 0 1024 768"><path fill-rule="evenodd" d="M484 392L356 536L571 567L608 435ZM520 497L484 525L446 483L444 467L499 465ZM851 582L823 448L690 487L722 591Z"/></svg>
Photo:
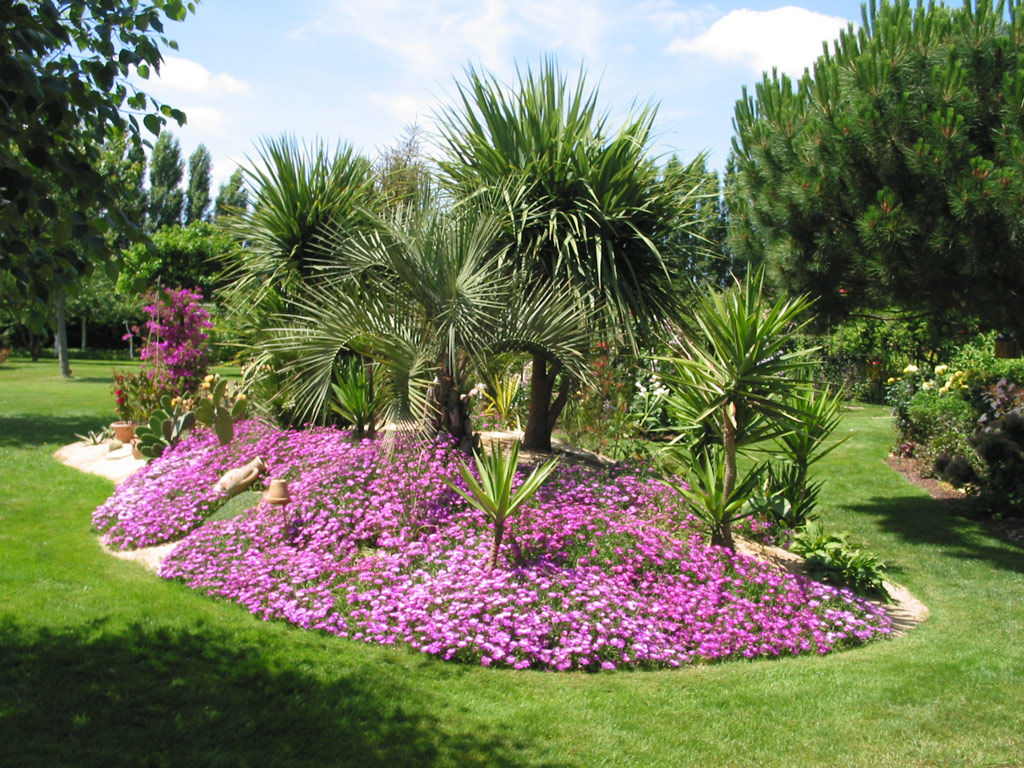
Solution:
<svg viewBox="0 0 1024 768"><path fill-rule="evenodd" d="M168 36L143 89L188 115L183 154L205 143L215 186L261 136L345 141L376 158L416 123L429 139L467 65L514 82L554 56L617 123L659 106L658 155L707 152L721 169L743 85L771 67L799 74L860 3L676 0L206 0Z"/></svg>

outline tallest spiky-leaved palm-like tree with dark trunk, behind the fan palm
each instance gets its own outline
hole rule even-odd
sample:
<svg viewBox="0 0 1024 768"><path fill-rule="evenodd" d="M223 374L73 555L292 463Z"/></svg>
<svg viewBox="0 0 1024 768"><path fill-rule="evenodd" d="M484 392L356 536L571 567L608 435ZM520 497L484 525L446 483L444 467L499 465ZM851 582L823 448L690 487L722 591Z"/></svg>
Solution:
<svg viewBox="0 0 1024 768"><path fill-rule="evenodd" d="M566 287L586 307L582 316L635 347L677 305L673 283L685 278L659 244L692 220L695 199L687 186L694 174L662 174L649 155L655 108L612 130L584 76L569 88L552 60L536 76L519 73L513 90L470 68L458 92L438 116L442 182L457 198L490 201L511 245L506 268ZM534 354L526 447L551 450L551 430L577 384L567 374Z"/></svg>

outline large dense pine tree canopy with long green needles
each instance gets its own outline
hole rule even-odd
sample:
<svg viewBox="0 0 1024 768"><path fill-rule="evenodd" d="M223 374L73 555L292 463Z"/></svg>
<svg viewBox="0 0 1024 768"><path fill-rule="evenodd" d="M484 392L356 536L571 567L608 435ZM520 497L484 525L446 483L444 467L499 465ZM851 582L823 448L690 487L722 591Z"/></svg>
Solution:
<svg viewBox="0 0 1024 768"><path fill-rule="evenodd" d="M873 1L737 102L730 243L833 317L1024 330L1024 7Z"/></svg>

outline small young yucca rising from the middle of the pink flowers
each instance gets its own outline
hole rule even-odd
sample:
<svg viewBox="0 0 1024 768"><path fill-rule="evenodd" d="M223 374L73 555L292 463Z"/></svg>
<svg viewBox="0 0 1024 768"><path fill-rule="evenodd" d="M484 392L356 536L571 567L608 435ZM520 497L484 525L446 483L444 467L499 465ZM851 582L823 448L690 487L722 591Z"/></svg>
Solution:
<svg viewBox="0 0 1024 768"><path fill-rule="evenodd" d="M512 450L507 456L499 446L495 446L489 454L482 457L479 453L474 453L473 459L476 462L479 479L473 475L472 470L466 464L459 463L459 474L462 476L463 482L466 483L467 489L461 488L446 478L444 478L444 482L476 509L483 512L494 524L494 544L490 547L490 555L487 560L487 567L494 568L498 565L498 550L502 546L502 539L505 536L506 522L519 511L522 505L534 498L544 481L558 466L558 459L552 459L535 468L514 492L512 490L512 481L519 468L518 441L512 444Z"/></svg>

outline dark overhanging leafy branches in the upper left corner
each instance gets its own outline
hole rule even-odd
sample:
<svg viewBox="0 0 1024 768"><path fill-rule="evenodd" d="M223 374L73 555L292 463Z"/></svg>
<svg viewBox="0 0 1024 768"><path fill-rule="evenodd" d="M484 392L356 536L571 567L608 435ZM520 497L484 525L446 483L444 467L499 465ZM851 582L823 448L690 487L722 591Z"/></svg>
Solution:
<svg viewBox="0 0 1024 768"><path fill-rule="evenodd" d="M112 134L139 144L143 126L156 134L168 119L184 122L127 76L159 71L161 46L176 47L164 20L194 9L181 0L0 3L0 269L24 296L45 300L54 281L110 255L105 229L138 232L98 170L100 147Z"/></svg>

